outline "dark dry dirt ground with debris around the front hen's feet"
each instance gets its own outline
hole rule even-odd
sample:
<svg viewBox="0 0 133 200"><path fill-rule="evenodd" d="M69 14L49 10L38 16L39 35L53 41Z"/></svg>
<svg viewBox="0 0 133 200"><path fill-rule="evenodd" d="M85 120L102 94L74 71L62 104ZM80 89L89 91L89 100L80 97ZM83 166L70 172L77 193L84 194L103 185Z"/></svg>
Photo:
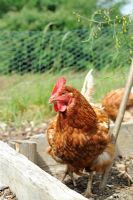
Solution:
<svg viewBox="0 0 133 200"><path fill-rule="evenodd" d="M95 175L93 180L93 195L91 200L133 200L133 158L121 158L116 160L109 174L106 188L101 191L99 183L100 175ZM76 187L68 178L65 184L71 189L83 193L86 189L88 177L79 177Z"/></svg>

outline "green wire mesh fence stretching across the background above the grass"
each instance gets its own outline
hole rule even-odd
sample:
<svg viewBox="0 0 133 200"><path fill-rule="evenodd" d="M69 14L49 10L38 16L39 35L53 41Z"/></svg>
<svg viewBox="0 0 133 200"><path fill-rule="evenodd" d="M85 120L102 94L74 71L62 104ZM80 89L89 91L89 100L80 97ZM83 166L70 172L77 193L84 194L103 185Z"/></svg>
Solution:
<svg viewBox="0 0 133 200"><path fill-rule="evenodd" d="M93 32L0 32L0 73L129 66L132 30L130 25L122 34L108 26Z"/></svg>

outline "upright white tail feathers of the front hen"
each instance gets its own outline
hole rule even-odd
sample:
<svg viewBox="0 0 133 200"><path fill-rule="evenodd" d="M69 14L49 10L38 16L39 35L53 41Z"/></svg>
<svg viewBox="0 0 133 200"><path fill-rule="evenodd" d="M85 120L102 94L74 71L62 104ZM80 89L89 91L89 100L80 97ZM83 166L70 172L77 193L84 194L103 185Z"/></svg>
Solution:
<svg viewBox="0 0 133 200"><path fill-rule="evenodd" d="M93 69L90 69L87 73L83 87L81 89L81 94L88 100L91 100L92 92L93 92L93 75L92 75Z"/></svg>

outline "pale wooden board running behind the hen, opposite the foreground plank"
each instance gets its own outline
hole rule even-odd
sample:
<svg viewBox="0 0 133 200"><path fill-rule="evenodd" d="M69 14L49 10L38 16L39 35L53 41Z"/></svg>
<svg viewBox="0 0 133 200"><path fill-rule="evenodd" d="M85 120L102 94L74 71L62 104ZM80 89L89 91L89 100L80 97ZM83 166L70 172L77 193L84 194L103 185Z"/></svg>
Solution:
<svg viewBox="0 0 133 200"><path fill-rule="evenodd" d="M111 125L112 132L114 125ZM44 134L35 135L31 141L37 144L37 165L50 174L60 178L63 176L66 166L56 163L46 152L47 137ZM120 134L117 141L118 153L122 156L133 155L133 122L122 123Z"/></svg>

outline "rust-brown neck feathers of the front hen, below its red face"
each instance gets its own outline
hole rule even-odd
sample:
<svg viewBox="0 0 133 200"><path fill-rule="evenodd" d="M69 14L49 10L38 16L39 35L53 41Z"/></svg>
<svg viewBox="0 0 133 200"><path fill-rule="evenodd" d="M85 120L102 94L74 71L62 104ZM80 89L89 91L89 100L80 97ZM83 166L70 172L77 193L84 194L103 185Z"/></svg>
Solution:
<svg viewBox="0 0 133 200"><path fill-rule="evenodd" d="M59 112L57 124L59 129L71 126L84 131L96 132L97 115L85 97L74 90L74 98L65 112Z"/></svg>

